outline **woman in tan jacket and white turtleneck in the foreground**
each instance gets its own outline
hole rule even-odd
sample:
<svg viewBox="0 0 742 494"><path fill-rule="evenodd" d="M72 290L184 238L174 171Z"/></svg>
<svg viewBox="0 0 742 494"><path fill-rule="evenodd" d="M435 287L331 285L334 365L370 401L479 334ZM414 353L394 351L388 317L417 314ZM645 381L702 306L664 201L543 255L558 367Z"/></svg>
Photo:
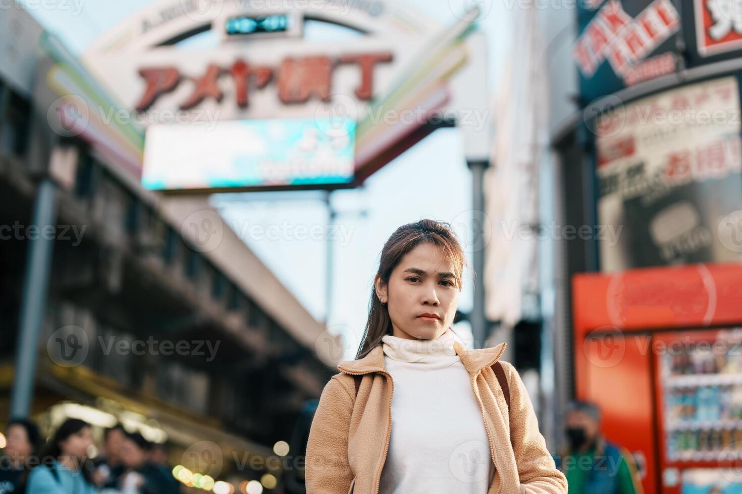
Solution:
<svg viewBox="0 0 742 494"><path fill-rule="evenodd" d="M468 350L450 328L464 264L439 221L384 244L358 355L312 421L307 494L567 492L505 344Z"/></svg>

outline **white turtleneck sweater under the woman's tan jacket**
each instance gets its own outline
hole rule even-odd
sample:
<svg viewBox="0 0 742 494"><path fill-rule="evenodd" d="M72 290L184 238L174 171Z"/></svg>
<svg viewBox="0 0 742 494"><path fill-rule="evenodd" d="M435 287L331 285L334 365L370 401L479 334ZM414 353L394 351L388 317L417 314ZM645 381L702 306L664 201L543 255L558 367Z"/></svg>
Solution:
<svg viewBox="0 0 742 494"><path fill-rule="evenodd" d="M487 493L490 444L455 338L450 328L433 340L381 338L394 394L379 494Z"/></svg>

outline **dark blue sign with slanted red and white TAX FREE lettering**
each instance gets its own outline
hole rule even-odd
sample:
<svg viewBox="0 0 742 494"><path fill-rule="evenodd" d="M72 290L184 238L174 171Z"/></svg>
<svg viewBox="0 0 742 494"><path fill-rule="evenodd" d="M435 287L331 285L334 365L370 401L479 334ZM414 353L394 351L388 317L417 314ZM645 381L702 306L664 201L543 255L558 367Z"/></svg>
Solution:
<svg viewBox="0 0 742 494"><path fill-rule="evenodd" d="M574 59L585 103L674 72L680 14L672 0L578 2Z"/></svg>

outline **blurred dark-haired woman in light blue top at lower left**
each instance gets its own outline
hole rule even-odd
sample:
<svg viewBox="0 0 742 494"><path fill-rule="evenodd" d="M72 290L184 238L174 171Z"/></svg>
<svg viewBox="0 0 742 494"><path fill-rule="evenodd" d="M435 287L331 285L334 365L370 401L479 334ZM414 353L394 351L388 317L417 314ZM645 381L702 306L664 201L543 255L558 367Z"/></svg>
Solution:
<svg viewBox="0 0 742 494"><path fill-rule="evenodd" d="M41 455L41 464L28 475L28 494L94 494L88 448L91 425L68 418L59 426Z"/></svg>

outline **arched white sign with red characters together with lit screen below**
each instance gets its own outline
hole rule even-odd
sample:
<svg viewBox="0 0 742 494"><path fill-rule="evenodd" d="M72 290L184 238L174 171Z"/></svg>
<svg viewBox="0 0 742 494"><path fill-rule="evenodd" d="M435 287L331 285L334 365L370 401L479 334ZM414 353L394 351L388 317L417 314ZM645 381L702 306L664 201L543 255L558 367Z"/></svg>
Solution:
<svg viewBox="0 0 742 494"><path fill-rule="evenodd" d="M383 136L361 142L358 122L372 100L419 82L406 72L441 36L439 24L397 1L287 0L278 10L242 0L189 5L154 1L83 56L145 127L139 178L151 190L356 187L358 167L406 136L380 125ZM340 38L306 36L305 27L321 33L322 24ZM460 44L450 53L462 61L470 55ZM421 81L446 79L434 72L422 70ZM439 88L433 96L440 106L453 93Z"/></svg>

